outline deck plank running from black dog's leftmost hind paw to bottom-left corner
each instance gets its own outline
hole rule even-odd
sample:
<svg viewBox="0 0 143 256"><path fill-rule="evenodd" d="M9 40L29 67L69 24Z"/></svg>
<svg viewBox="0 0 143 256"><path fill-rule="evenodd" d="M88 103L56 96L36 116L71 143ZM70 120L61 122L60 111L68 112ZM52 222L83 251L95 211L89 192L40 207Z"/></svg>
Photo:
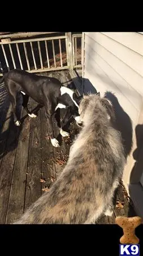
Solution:
<svg viewBox="0 0 143 256"><path fill-rule="evenodd" d="M19 108L19 109L18 109ZM18 116L21 113L20 99L18 98ZM0 169L0 224L5 224L8 200L10 196L11 180L14 170L15 155L21 127L15 126L13 117L9 126L5 152Z"/></svg>

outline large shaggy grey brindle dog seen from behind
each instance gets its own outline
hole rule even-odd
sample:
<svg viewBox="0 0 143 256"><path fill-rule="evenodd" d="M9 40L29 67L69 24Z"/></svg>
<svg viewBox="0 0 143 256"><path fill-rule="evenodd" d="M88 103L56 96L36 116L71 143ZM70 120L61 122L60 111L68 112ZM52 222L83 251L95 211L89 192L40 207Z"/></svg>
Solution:
<svg viewBox="0 0 143 256"><path fill-rule="evenodd" d="M89 95L81 100L79 114L83 127L62 174L13 224L91 224L103 213L112 215L125 166L114 109L106 98Z"/></svg>

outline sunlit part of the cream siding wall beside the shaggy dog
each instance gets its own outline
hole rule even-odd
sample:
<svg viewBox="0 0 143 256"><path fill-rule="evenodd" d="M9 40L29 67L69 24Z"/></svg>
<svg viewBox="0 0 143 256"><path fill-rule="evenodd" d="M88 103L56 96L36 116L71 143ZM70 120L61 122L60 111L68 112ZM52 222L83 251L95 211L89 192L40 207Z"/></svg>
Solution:
<svg viewBox="0 0 143 256"><path fill-rule="evenodd" d="M106 90L115 93L135 131L143 97L143 35L137 32L85 32L84 78L102 94ZM132 154L129 159L125 184L129 183Z"/></svg>

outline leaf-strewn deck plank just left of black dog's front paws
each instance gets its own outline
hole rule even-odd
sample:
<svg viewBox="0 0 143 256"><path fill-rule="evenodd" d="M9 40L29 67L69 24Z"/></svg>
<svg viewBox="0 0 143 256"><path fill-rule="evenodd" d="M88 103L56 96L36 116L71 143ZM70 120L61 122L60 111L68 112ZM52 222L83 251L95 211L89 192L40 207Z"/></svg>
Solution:
<svg viewBox="0 0 143 256"><path fill-rule="evenodd" d="M51 73L48 76L52 76ZM42 189L50 188L56 180L55 163L54 163L54 148L48 139L47 122L45 117L45 108L41 109L41 179ZM42 190L42 193L44 191Z"/></svg>

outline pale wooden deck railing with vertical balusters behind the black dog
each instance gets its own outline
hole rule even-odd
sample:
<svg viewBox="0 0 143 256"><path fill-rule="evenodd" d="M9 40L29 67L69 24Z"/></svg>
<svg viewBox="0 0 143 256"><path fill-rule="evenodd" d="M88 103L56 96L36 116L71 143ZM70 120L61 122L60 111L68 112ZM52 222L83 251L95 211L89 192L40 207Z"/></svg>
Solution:
<svg viewBox="0 0 143 256"><path fill-rule="evenodd" d="M47 34L46 34L47 33ZM3 70L20 68L28 72L44 72L81 67L82 34L66 32L50 36L49 32L0 35L0 62ZM40 36L44 37L40 37ZM23 37L23 39L19 39ZM24 39L28 36L36 38Z"/></svg>

